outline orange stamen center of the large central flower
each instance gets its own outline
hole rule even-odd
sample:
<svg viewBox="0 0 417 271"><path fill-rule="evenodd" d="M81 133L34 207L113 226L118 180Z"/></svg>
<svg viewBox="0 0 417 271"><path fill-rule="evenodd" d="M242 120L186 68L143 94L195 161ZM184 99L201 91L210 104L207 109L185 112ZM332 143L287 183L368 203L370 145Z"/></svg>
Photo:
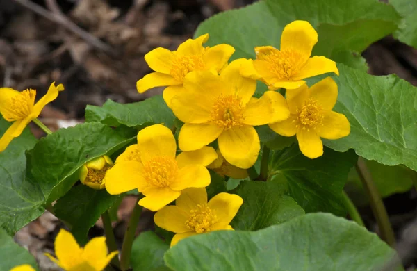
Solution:
<svg viewBox="0 0 417 271"><path fill-rule="evenodd" d="M211 122L225 130L242 125L241 122L244 119L242 98L236 95L220 95L215 99L210 117Z"/></svg>

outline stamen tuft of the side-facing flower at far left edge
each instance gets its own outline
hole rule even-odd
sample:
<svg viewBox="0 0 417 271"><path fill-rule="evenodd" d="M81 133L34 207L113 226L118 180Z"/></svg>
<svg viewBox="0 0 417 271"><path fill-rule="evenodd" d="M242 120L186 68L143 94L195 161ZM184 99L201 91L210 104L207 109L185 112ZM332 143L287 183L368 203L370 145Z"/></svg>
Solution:
<svg viewBox="0 0 417 271"><path fill-rule="evenodd" d="M35 104L36 90L24 90L10 99L10 103L3 109L2 114L5 120L13 122L22 120L33 111Z"/></svg>

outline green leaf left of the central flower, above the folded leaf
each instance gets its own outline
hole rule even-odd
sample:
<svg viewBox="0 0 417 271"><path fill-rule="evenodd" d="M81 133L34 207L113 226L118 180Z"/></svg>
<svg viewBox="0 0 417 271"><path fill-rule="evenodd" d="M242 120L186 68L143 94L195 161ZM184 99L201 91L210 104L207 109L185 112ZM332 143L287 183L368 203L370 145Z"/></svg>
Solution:
<svg viewBox="0 0 417 271"><path fill-rule="evenodd" d="M131 104L119 104L107 100L101 107L88 105L85 108L86 122L102 122L109 126L124 124L142 129L145 126L163 123L171 128L174 126L174 119L174 114L161 95Z"/></svg>

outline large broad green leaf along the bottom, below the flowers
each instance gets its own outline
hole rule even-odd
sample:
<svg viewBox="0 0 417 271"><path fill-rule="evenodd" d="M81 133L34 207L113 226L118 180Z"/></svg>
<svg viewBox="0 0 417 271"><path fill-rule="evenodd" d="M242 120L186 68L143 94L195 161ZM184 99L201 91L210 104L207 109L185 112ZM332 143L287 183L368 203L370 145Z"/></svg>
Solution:
<svg viewBox="0 0 417 271"><path fill-rule="evenodd" d="M212 231L165 253L172 270L379 270L395 251L356 223L325 213L260 231ZM390 270L401 270L390 269Z"/></svg>

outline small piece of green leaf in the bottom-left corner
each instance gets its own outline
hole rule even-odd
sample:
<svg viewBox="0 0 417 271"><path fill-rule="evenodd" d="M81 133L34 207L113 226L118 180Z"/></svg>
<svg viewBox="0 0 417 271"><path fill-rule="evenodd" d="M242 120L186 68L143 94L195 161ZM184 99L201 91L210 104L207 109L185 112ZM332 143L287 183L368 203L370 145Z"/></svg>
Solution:
<svg viewBox="0 0 417 271"><path fill-rule="evenodd" d="M6 271L24 264L38 270L35 258L24 247L17 245L6 231L0 229L0 270Z"/></svg>

